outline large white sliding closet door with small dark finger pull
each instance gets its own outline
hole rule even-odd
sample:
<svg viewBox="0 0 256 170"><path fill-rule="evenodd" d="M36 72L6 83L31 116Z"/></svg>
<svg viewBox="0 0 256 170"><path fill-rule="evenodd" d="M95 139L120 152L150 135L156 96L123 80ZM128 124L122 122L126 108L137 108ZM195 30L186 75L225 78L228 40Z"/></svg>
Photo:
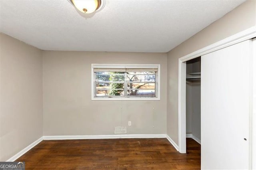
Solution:
<svg viewBox="0 0 256 170"><path fill-rule="evenodd" d="M201 57L201 168L248 169L252 40Z"/></svg>

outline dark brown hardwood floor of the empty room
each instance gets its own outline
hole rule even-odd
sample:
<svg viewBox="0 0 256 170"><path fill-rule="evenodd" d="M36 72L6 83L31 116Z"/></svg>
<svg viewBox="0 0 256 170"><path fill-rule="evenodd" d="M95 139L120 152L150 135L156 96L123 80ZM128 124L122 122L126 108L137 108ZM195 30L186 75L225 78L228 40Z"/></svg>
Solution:
<svg viewBox="0 0 256 170"><path fill-rule="evenodd" d="M187 138L180 154L166 138L43 140L16 161L26 170L200 169L200 144Z"/></svg>

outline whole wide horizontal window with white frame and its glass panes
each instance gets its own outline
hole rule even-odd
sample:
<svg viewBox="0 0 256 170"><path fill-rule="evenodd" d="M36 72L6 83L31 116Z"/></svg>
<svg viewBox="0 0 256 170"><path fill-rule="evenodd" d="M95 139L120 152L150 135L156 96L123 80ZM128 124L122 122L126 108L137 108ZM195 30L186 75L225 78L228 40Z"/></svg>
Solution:
<svg viewBox="0 0 256 170"><path fill-rule="evenodd" d="M92 64L92 100L160 100L160 65Z"/></svg>

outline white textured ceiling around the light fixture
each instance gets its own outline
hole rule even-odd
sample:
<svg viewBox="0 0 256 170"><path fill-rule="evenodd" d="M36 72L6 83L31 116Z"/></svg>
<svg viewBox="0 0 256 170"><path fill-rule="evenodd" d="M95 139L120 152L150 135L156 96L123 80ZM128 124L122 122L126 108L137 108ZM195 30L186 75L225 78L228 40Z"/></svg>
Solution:
<svg viewBox="0 0 256 170"><path fill-rule="evenodd" d="M0 0L0 32L43 50L168 52L245 0Z"/></svg>

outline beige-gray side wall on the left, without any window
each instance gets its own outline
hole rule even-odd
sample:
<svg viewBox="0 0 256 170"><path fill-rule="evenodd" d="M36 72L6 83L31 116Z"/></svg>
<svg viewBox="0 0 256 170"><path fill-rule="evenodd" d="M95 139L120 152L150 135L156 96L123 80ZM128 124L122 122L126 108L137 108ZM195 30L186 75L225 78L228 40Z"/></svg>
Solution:
<svg viewBox="0 0 256 170"><path fill-rule="evenodd" d="M42 137L42 51L0 34L0 161Z"/></svg>

